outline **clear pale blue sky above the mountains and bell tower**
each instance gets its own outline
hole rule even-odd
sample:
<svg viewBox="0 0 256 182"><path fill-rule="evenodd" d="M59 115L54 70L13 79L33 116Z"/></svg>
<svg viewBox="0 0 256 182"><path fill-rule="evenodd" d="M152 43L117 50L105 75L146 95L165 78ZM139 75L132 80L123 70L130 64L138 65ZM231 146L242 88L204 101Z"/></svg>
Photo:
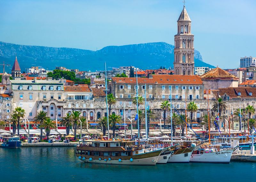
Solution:
<svg viewBox="0 0 256 182"><path fill-rule="evenodd" d="M203 61L237 68L256 56L256 1L186 0ZM0 0L0 41L96 50L174 43L182 0Z"/></svg>

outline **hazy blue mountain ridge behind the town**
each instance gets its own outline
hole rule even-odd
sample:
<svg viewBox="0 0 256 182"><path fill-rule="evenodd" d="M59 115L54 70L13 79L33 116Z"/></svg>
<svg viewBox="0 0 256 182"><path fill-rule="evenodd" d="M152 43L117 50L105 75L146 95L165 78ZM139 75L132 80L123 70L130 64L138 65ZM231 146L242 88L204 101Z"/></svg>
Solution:
<svg viewBox="0 0 256 182"><path fill-rule="evenodd" d="M54 69L64 66L68 69L103 70L104 62L108 68L118 66L136 66L141 69L157 69L160 66L173 67L174 46L166 42L151 42L123 46L107 46L92 51L67 47L29 46L0 41L0 62L13 64L15 56L22 71L31 66ZM93 64L91 64L93 62ZM146 64L145 64L146 63ZM203 62L199 51L195 50L195 66L209 66ZM2 66L0 66L0 72ZM10 67L5 67L7 72Z"/></svg>

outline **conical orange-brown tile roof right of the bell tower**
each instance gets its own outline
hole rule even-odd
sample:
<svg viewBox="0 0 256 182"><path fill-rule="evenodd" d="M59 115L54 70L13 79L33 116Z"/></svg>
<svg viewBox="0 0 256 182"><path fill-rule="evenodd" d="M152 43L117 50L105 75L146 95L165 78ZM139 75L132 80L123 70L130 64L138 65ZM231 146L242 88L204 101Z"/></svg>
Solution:
<svg viewBox="0 0 256 182"><path fill-rule="evenodd" d="M228 71L225 71L224 69L221 69L219 67L204 73L204 75L201 75L200 78L232 78L238 80L236 76L232 75L231 73L228 73Z"/></svg>

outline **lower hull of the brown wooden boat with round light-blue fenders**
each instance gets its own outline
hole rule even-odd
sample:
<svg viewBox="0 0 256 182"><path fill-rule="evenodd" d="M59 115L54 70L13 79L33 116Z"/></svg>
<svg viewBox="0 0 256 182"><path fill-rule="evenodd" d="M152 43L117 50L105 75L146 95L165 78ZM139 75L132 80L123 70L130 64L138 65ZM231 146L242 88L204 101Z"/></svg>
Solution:
<svg viewBox="0 0 256 182"><path fill-rule="evenodd" d="M119 162L118 160L91 160L80 159L81 161L84 161L85 163L98 163L98 164L117 164L117 165L156 165L158 156L155 157L148 157L148 158L142 158L142 159L134 159L132 162L130 160L122 160Z"/></svg>

